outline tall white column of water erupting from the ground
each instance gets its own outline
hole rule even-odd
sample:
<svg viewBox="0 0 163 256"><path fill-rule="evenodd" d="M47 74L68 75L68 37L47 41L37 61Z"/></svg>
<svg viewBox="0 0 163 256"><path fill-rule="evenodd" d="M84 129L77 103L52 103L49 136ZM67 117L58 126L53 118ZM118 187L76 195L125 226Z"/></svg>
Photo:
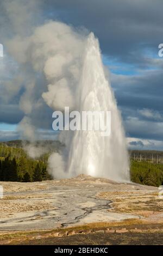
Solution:
<svg viewBox="0 0 163 256"><path fill-rule="evenodd" d="M68 174L87 174L116 181L129 181L126 139L110 84L106 80L98 40L87 39L83 71L77 88L77 104L82 111L111 111L111 134L74 131L68 157Z"/></svg>

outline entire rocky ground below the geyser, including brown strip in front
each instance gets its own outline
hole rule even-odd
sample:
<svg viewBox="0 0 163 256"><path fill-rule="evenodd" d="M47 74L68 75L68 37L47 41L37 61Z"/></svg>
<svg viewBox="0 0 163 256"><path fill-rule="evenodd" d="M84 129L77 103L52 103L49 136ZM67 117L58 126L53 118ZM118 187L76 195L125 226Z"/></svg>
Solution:
<svg viewBox="0 0 163 256"><path fill-rule="evenodd" d="M85 175L0 185L1 244L163 243L156 187Z"/></svg>

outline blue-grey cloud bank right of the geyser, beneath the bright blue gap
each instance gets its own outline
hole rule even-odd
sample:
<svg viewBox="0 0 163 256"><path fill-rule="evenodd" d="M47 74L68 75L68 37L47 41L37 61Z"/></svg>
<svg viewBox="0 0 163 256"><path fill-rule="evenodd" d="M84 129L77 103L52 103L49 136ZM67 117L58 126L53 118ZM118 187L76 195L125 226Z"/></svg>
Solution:
<svg viewBox="0 0 163 256"><path fill-rule="evenodd" d="M136 76L114 74L111 82L122 112L126 135L162 140L162 71L146 71Z"/></svg>

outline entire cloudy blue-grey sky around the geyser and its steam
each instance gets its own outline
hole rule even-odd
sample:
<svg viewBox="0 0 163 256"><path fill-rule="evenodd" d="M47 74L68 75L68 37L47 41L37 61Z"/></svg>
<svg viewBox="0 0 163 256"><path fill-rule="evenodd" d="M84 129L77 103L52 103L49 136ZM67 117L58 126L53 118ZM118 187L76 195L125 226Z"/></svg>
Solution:
<svg viewBox="0 0 163 256"><path fill-rule="evenodd" d="M22 10L20 19L23 22L26 16L23 5L32 1L14 2L18 3L20 13ZM39 3L33 1L31 9L27 6L33 26L48 19L58 20L78 30L92 31L99 39L103 63L110 70L111 86L122 113L129 148L163 150L163 58L158 57L158 45L163 42L162 1L124 0L122 4L120 0L40 0ZM0 39L27 32L28 27L21 32L21 29L14 30L10 21L6 24L5 17L9 15L10 8L7 4L1 5L0 22L4 26L0 29ZM16 90L17 81L15 88L11 88L9 83L4 86L5 81L11 80L17 72L17 63L10 56L7 45L4 53L4 57L0 57L1 141L18 138L17 124L24 116L19 103L23 87ZM9 89L12 95L8 94ZM51 118L48 108L45 113ZM43 119L46 118L45 113L42 113ZM50 127L43 129L47 138Z"/></svg>

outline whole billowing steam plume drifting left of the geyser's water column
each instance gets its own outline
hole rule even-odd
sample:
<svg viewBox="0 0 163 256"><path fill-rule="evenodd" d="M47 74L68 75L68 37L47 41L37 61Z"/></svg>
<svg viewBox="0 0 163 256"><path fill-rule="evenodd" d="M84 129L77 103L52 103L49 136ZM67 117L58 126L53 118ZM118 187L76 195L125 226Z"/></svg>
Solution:
<svg viewBox="0 0 163 256"><path fill-rule="evenodd" d="M34 147L41 139L38 129L52 126L53 110L74 108L74 92L79 83L86 30L78 32L58 21L41 26L37 0L6 0L1 3L1 40L14 62L14 74L2 84L5 103L18 97L24 118L18 126L22 139ZM40 15L40 16L39 16ZM36 19L37 18L37 19ZM6 22L8 21L8 22ZM4 100L4 99L3 99ZM38 156L42 150L26 150Z"/></svg>

